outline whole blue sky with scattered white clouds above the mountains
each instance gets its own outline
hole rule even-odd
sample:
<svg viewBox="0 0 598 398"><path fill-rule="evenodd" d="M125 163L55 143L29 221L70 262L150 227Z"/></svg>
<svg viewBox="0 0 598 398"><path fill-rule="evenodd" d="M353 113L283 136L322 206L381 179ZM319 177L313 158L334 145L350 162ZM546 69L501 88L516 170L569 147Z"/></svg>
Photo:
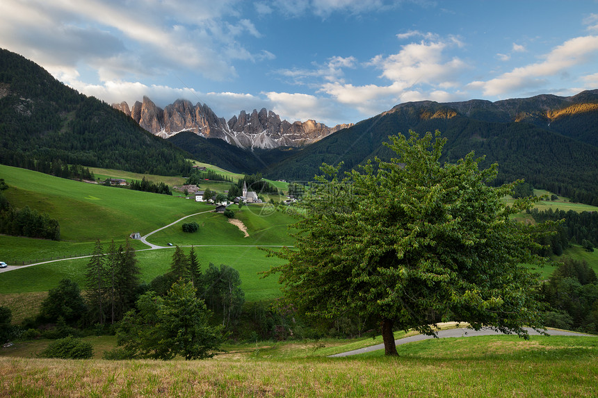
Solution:
<svg viewBox="0 0 598 398"><path fill-rule="evenodd" d="M355 123L598 88L598 2L2 0L0 47L108 103Z"/></svg>

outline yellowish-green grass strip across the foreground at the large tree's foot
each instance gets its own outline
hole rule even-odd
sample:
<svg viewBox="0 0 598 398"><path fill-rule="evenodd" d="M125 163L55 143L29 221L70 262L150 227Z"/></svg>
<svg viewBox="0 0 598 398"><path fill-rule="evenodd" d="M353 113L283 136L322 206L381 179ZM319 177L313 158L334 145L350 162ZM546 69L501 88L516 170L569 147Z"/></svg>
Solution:
<svg viewBox="0 0 598 398"><path fill-rule="evenodd" d="M0 395L593 397L598 385L594 337L423 340L399 346L398 358L318 356L328 344L252 345L202 361L0 358ZM286 358L273 358L279 350Z"/></svg>

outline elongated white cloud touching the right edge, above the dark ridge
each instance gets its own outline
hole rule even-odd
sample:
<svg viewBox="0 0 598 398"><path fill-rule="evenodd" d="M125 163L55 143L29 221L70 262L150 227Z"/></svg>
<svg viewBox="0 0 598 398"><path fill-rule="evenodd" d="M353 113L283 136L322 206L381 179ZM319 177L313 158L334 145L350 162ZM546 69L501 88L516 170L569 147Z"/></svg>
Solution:
<svg viewBox="0 0 598 398"><path fill-rule="evenodd" d="M549 76L563 74L572 67L590 63L597 53L598 36L573 38L555 47L540 63L517 67L489 81L475 81L469 86L481 88L485 95L491 96L538 88L547 83Z"/></svg>

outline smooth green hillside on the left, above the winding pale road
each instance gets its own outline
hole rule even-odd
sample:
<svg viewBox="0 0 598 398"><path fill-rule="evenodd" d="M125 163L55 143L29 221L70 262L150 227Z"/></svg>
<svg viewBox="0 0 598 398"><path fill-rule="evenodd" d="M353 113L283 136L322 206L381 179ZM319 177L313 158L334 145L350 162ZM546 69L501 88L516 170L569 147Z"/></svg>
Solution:
<svg viewBox="0 0 598 398"><path fill-rule="evenodd" d="M0 165L10 186L4 193L17 207L28 205L60 222L60 239L72 242L123 240L207 209L195 201L81 183Z"/></svg>

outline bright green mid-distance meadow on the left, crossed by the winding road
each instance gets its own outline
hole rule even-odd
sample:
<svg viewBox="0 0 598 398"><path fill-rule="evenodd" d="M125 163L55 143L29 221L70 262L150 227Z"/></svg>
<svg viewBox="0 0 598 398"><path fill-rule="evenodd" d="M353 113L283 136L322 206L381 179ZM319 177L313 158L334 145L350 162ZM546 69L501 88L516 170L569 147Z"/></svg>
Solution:
<svg viewBox="0 0 598 398"><path fill-rule="evenodd" d="M111 176L119 175L107 172ZM127 177L124 174L120 176ZM72 279L84 285L88 258L56 259L88 256L95 247L95 240L99 239L107 249L111 240L124 244L131 232L145 235L195 213L201 214L150 235L149 242L161 246L168 243L179 245L186 253L194 245L202 267L213 263L236 268L248 301L280 296L275 277L261 279L259 276L259 272L268 270L280 259L268 258L266 251L258 247L292 245L288 225L295 220L282 212L273 211L273 206L252 205L241 209L232 206L236 219L243 223L249 234L245 237L239 226L229 223L224 215L213 213L214 206L191 199L58 179L3 165L0 165L0 178L10 186L5 194L11 203L49 213L50 217L59 220L61 231L58 242L0 236L0 260L10 265L54 260L0 274L0 298L13 309L15 319L31 315L24 313L23 306L19 304L21 301L28 302L31 311L35 311L35 298L42 299L40 295L56 287L61 279ZM181 225L191 221L200 224L200 230L184 233ZM149 283L156 276L168 272L171 247L150 251L145 250L148 247L139 240L129 242L138 250L136 256L142 281Z"/></svg>

